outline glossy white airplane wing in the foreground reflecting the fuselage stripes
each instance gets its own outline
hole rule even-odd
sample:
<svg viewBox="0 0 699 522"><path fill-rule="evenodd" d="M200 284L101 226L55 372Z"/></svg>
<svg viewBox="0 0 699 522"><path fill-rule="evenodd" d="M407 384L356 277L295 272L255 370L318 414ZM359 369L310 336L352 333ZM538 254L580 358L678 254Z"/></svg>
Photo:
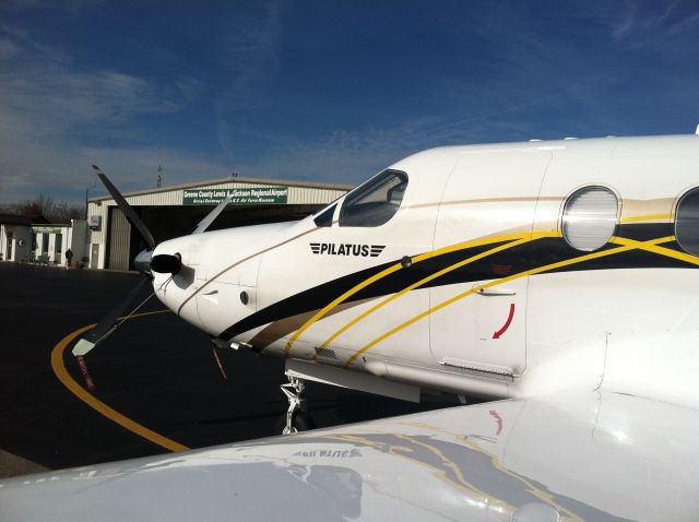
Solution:
<svg viewBox="0 0 699 522"><path fill-rule="evenodd" d="M699 520L698 413L607 392L460 406L0 479L0 520Z"/></svg>

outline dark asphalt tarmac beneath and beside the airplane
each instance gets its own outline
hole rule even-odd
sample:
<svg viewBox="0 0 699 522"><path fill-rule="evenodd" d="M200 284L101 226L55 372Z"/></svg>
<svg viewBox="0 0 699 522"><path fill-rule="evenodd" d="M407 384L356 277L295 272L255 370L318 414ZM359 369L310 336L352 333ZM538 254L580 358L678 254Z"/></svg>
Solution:
<svg viewBox="0 0 699 522"><path fill-rule="evenodd" d="M61 340L97 322L140 277L0 262L0 456L11 455L11 463L0 458L0 476L168 451L95 411L51 366ZM153 298L140 311L164 309ZM72 345L57 360L84 393L87 383ZM283 360L217 351L224 379L212 349L205 333L171 312L133 318L85 356L94 384L90 395L188 448L279 435L276 424L287 407L279 388L285 382ZM424 395L413 404L309 383L307 404L317 427L328 427L458 402Z"/></svg>

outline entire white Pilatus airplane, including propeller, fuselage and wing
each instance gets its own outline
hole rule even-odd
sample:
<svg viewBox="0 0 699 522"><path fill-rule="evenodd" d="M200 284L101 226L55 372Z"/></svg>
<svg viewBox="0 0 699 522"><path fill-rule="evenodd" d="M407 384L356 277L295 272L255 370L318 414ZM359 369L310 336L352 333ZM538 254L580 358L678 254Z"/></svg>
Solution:
<svg viewBox="0 0 699 522"><path fill-rule="evenodd" d="M491 402L9 479L3 520L699 520L699 135L435 149L159 245L99 176L143 285L286 359L285 432L307 380Z"/></svg>

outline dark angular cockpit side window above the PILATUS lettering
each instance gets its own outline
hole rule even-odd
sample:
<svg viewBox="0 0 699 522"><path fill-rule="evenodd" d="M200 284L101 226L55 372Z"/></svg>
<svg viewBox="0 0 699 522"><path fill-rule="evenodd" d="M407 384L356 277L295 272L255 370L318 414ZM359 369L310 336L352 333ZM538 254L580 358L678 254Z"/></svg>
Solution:
<svg viewBox="0 0 699 522"><path fill-rule="evenodd" d="M340 213L340 226L379 226L401 206L407 175L386 170L350 192Z"/></svg>

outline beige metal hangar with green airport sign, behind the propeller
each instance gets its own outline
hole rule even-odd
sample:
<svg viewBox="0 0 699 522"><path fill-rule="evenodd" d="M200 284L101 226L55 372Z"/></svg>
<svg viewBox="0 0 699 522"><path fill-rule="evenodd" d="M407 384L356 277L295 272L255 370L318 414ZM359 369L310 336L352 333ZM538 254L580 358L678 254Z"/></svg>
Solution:
<svg viewBox="0 0 699 522"><path fill-rule="evenodd" d="M163 187L123 194L156 241L193 230L228 194L233 200L211 230L299 220L354 187L277 179L225 178ZM91 198L87 257L91 269L133 270L133 259L145 248L110 197Z"/></svg>

